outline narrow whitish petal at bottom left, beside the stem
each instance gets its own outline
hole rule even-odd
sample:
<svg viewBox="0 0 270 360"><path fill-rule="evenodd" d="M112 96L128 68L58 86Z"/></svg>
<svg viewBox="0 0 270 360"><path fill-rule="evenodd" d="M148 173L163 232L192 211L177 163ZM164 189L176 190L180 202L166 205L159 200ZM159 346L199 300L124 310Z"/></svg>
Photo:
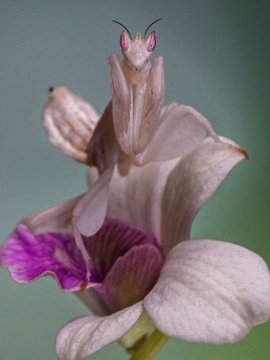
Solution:
<svg viewBox="0 0 270 360"><path fill-rule="evenodd" d="M141 302L137 302L109 316L83 316L72 320L56 337L59 360L80 360L118 340L133 327L142 311Z"/></svg>

